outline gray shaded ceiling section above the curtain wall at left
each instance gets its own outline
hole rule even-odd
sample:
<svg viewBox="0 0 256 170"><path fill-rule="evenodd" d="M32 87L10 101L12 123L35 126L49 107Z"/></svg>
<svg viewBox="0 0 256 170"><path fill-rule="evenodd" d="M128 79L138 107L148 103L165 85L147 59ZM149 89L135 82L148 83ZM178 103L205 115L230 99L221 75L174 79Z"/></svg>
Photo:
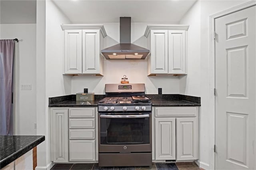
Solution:
<svg viewBox="0 0 256 170"><path fill-rule="evenodd" d="M1 24L36 24L36 0L0 0Z"/></svg>

